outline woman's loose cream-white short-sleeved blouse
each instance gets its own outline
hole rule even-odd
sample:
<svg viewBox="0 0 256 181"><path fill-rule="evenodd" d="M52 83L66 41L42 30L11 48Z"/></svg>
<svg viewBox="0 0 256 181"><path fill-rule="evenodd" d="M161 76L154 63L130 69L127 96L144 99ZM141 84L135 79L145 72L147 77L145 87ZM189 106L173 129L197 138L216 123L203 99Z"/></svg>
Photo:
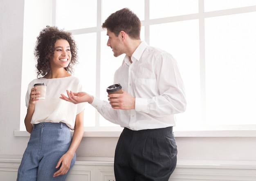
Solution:
<svg viewBox="0 0 256 181"><path fill-rule="evenodd" d="M82 84L77 77L63 77L45 79L43 77L34 79L28 85L26 94L26 106L29 105L29 95L34 84L45 83L47 85L45 99L36 101L35 110L31 119L31 124L41 122L59 123L63 122L74 130L76 115L85 108L85 103L73 104L60 99L61 93L67 96L66 90L81 92Z"/></svg>

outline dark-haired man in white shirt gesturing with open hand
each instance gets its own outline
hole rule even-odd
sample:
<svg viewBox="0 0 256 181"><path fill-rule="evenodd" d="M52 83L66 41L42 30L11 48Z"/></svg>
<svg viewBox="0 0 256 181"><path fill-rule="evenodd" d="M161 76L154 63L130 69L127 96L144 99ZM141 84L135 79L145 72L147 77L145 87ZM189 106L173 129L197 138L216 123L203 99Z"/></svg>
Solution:
<svg viewBox="0 0 256 181"><path fill-rule="evenodd" d="M140 40L141 22L124 8L102 24L114 56L126 54L114 75L122 94L109 103L84 92L67 91L74 104L89 102L112 123L124 127L115 151L117 181L168 181L177 162L173 135L175 114L186 109L184 85L177 62L169 53Z"/></svg>

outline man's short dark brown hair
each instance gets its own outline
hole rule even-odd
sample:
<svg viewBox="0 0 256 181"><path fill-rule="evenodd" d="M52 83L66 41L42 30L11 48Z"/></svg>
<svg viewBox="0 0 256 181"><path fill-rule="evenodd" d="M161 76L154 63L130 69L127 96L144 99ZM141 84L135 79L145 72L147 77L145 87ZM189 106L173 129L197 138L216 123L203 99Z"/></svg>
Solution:
<svg viewBox="0 0 256 181"><path fill-rule="evenodd" d="M103 29L109 29L116 36L119 35L120 31L125 31L130 38L140 40L141 21L137 15L128 8L123 8L112 13L101 27Z"/></svg>

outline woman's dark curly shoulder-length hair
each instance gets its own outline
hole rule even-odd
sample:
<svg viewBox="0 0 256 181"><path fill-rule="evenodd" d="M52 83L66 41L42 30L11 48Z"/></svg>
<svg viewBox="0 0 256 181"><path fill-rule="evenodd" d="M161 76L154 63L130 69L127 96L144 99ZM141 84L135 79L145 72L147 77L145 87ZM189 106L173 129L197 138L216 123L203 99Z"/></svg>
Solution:
<svg viewBox="0 0 256 181"><path fill-rule="evenodd" d="M56 40L64 39L70 44L71 60L65 67L69 73L73 73L73 66L77 64L77 46L70 32L60 30L56 26L46 26L37 37L34 55L37 59L36 69L37 77L47 75L50 71L49 57L54 55L54 44Z"/></svg>

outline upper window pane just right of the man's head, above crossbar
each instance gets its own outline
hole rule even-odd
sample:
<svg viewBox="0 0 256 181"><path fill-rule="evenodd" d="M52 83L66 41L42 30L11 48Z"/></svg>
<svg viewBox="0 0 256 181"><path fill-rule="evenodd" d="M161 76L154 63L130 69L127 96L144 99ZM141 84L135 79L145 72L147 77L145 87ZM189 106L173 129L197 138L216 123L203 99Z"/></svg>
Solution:
<svg viewBox="0 0 256 181"><path fill-rule="evenodd" d="M150 0L150 19L198 13L198 0Z"/></svg>

